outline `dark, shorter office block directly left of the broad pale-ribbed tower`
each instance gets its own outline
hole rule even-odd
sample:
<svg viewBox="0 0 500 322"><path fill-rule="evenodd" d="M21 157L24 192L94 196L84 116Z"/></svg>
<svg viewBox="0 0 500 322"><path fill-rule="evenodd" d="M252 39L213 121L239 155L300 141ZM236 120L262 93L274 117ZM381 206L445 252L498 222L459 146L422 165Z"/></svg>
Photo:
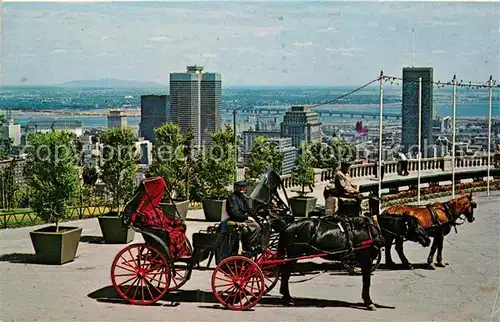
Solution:
<svg viewBox="0 0 500 322"><path fill-rule="evenodd" d="M151 142L155 141L156 127L169 119L168 95L141 95L141 123L139 135Z"/></svg>

